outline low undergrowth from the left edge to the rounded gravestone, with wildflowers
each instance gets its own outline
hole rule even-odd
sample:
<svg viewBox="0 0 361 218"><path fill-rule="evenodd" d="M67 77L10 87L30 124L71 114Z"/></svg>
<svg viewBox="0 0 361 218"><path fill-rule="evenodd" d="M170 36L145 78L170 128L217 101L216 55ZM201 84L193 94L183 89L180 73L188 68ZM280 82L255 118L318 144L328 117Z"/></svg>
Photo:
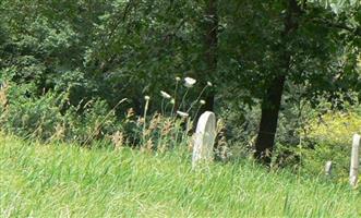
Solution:
<svg viewBox="0 0 361 218"><path fill-rule="evenodd" d="M179 82L177 80L177 85ZM196 117L202 106L201 94L190 106L186 102L192 99L185 98L188 92L183 96L175 96L179 101L184 100L186 112L176 112L176 99L163 92L161 113L147 111L146 106L143 116L136 116L130 109L122 118L116 116L116 109L122 101L109 108L106 100L94 97L74 105L71 84L67 89L65 86L57 86L56 90L41 94L34 83L4 86L0 93L0 125L4 132L23 137L83 145L94 140L109 145L111 141L115 147L130 145L160 152L191 145L192 117ZM145 102L149 104L148 100ZM152 114L146 116L146 111Z"/></svg>

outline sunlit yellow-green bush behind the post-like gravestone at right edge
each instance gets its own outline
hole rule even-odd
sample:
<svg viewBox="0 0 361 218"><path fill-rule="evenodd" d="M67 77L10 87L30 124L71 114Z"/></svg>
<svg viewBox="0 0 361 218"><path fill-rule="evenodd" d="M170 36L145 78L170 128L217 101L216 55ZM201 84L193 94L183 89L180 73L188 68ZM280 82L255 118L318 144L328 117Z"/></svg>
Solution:
<svg viewBox="0 0 361 218"><path fill-rule="evenodd" d="M347 178L354 133L361 133L361 116L357 112L329 111L310 120L302 134L305 143L300 147L303 169L322 173L326 161L332 160L335 178Z"/></svg>

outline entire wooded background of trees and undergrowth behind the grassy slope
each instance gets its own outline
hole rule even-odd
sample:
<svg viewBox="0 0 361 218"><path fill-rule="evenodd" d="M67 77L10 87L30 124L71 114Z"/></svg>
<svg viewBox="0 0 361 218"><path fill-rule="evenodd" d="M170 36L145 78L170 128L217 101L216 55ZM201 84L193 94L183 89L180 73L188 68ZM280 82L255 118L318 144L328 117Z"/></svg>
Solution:
<svg viewBox="0 0 361 218"><path fill-rule="evenodd" d="M213 109L221 118L222 159L230 153L249 157L260 135L272 135L273 166L318 173L326 159L335 159L342 174L349 140L360 133L341 124L357 126L360 119L360 7L3 0L1 130L43 141L88 146L98 140L163 150L190 144L192 121ZM178 76L197 83L190 92ZM160 90L176 98L173 106ZM182 101L195 105L186 111ZM177 110L190 117L176 119ZM267 119L274 126L265 131L267 122L260 120ZM342 138L336 137L339 130Z"/></svg>

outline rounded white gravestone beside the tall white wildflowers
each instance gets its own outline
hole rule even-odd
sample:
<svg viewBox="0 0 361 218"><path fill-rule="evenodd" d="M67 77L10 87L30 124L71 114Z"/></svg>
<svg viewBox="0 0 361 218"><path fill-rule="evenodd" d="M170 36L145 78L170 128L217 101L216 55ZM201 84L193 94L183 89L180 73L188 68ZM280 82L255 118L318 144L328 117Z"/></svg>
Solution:
<svg viewBox="0 0 361 218"><path fill-rule="evenodd" d="M213 160L213 147L216 138L216 116L210 111L204 112L198 120L194 137L192 166Z"/></svg>

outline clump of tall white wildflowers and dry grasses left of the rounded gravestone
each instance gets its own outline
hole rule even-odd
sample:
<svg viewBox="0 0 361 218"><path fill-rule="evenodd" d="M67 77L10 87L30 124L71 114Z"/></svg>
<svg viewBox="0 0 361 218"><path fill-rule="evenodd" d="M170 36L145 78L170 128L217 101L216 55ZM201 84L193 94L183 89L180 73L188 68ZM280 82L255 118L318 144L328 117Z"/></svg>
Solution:
<svg viewBox="0 0 361 218"><path fill-rule="evenodd" d="M120 121L120 129L111 136L116 147L132 145L141 149L165 152L177 146L192 146L193 121L204 104L201 98L212 84L205 85L198 96L192 99L190 95L196 93L194 86L197 86L197 82L186 87L185 78L184 84L180 77L175 81L171 95L161 90L160 95L144 97L142 116L136 116L132 108L128 110ZM155 112L148 114L152 101L155 104L151 111Z"/></svg>

